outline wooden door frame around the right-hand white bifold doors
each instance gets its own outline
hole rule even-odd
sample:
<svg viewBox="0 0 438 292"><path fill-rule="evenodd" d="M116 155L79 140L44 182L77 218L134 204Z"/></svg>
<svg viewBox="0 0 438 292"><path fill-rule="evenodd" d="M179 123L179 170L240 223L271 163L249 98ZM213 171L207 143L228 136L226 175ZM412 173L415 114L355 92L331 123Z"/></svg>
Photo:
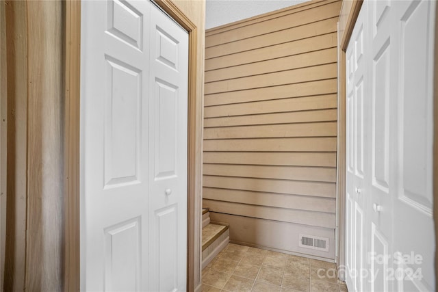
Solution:
<svg viewBox="0 0 438 292"><path fill-rule="evenodd" d="M345 232L346 232L346 50L363 0L342 0L338 25L338 135L337 135L337 269L339 279L345 281ZM438 16L438 5L435 17ZM435 18L435 58L433 92L433 172L438 173L438 18ZM438 180L433 176L433 220L435 222L435 243L438 243ZM339 269L341 268L341 269ZM438 290L438 253L435 252L435 289Z"/></svg>

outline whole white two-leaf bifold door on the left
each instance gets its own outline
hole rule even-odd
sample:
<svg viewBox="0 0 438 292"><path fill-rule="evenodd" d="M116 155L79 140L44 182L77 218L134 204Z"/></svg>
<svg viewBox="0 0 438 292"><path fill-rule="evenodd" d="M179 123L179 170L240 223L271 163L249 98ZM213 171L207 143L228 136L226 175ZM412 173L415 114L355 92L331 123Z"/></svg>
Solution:
<svg viewBox="0 0 438 292"><path fill-rule="evenodd" d="M172 42L157 38L162 23ZM173 31L183 29L150 1L81 4L83 291L185 289L188 34ZM161 76L160 57L177 73ZM172 195L154 193L155 178L166 181L170 172ZM159 207L158 197L166 198ZM162 215L159 234L151 228L154 212ZM182 239L178 249L175 238ZM164 274L151 278L157 242ZM174 282L158 286L169 275Z"/></svg>

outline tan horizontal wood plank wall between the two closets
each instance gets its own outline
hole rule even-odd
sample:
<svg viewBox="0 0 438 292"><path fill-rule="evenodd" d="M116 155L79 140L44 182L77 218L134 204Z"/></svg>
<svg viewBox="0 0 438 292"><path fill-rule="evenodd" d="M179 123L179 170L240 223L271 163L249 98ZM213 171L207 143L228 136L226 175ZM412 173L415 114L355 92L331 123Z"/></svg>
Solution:
<svg viewBox="0 0 438 292"><path fill-rule="evenodd" d="M212 217L334 238L340 7L311 1L207 30L203 205Z"/></svg>

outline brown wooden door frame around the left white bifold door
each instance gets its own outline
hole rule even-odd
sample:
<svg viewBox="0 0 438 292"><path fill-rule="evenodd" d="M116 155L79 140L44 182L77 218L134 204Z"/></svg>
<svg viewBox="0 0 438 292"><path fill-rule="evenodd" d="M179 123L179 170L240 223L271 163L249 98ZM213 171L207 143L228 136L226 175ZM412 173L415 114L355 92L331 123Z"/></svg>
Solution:
<svg viewBox="0 0 438 292"><path fill-rule="evenodd" d="M195 187L196 187L196 78L198 30L171 0L155 0L189 34L188 72L188 212L187 212L187 290L194 291L195 250ZM80 64L81 64L81 1L65 2L65 265L64 291L80 289L80 185L79 185L79 139L80 139ZM199 220L198 220L199 221Z"/></svg>

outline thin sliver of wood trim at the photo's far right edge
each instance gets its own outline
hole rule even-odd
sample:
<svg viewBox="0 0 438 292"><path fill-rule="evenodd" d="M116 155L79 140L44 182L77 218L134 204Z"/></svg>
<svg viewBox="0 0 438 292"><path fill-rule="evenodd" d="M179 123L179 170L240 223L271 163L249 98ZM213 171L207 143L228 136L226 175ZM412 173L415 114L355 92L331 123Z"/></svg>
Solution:
<svg viewBox="0 0 438 292"><path fill-rule="evenodd" d="M438 5L435 5L435 55L433 98L433 218L435 245L438 243ZM438 291L438 252L435 252L435 291Z"/></svg>

